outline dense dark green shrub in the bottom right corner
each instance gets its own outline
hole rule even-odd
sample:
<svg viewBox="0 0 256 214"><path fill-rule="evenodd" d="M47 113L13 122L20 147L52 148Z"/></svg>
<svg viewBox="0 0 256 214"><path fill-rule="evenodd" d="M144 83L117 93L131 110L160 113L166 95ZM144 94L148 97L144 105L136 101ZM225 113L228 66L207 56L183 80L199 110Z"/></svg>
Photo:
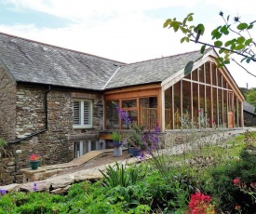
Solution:
<svg viewBox="0 0 256 214"><path fill-rule="evenodd" d="M241 160L229 161L212 169L212 186L209 192L214 194L222 211L235 212L238 206L242 213L253 213L256 210L255 201L249 194L235 188L233 181L238 178L245 183L244 187L249 187L251 182L256 181L256 154L249 154L246 147L240 155Z"/></svg>

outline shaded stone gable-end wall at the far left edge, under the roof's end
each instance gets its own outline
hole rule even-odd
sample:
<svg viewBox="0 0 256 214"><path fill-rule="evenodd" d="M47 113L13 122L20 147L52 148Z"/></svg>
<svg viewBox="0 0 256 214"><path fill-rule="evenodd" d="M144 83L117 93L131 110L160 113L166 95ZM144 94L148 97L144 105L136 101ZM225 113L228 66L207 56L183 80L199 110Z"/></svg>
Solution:
<svg viewBox="0 0 256 214"><path fill-rule="evenodd" d="M0 66L0 138L7 141L15 139L15 94L15 82Z"/></svg>

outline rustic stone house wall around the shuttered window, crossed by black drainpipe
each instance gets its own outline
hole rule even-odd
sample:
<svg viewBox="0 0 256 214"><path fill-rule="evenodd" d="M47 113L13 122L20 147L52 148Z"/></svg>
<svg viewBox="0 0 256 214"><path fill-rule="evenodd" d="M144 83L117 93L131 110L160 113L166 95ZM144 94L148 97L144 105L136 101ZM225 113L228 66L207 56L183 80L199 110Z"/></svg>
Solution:
<svg viewBox="0 0 256 214"><path fill-rule="evenodd" d="M47 87L29 87L18 85L16 93L16 136L17 139L28 136L46 127ZM52 88L47 93L47 131L19 143L9 144L14 159L7 161L12 169L6 171L2 184L22 182L20 168L29 167L31 154L40 154L41 166L66 163L74 159L74 145L68 140L69 135L76 133L97 134L103 127L103 100L101 96L93 99L93 128L73 129L72 91ZM88 93L81 93L87 94ZM14 164L13 164L14 162ZM8 174L9 173L9 174ZM7 179L7 174L9 179ZM1 179L0 179L1 181Z"/></svg>

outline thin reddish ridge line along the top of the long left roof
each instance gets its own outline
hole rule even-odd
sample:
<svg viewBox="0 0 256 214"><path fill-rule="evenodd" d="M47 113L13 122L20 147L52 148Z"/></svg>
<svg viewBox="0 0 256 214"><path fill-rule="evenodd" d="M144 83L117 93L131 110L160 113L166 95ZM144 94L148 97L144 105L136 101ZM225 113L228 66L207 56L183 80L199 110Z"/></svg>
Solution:
<svg viewBox="0 0 256 214"><path fill-rule="evenodd" d="M88 56L91 56L91 57L97 57L97 58L100 58L102 60L111 60L111 59L103 58L103 57L100 57L100 56L97 56L97 55L88 54L88 53L85 53L85 52L82 52L82 51L79 51L79 50L74 50L74 49L70 49L70 48L66 48L66 47L58 47L58 46L50 45L50 44L47 44L47 43L35 41L35 40L32 40L32 39L20 37L18 35L12 35L12 34L2 33L2 32L0 32L0 34L6 35L6 36L10 36L10 37L14 37L14 38L18 38L18 39L21 39L21 40L25 40L27 42L32 42L32 43L36 43L36 44L39 44L39 45L47 46L47 47L55 47L55 48L71 51L71 52L78 53L78 54L88 55ZM118 60L112 60L112 61L115 61L115 62L118 62L118 63L122 63L122 64L125 64L125 65L127 64L125 62L118 61Z"/></svg>

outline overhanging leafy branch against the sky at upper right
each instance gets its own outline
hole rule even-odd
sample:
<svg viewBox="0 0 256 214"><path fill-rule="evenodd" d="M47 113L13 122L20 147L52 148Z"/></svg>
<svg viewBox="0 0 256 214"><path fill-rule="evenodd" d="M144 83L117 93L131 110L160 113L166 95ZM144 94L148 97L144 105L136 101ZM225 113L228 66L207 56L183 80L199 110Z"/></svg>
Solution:
<svg viewBox="0 0 256 214"><path fill-rule="evenodd" d="M255 58L255 47L256 43L253 41L253 38L250 36L249 31L254 26L256 20L250 22L242 22L237 16L234 18L234 22L231 23L230 16L226 18L223 16L221 11L219 15L222 17L223 24L219 25L217 28L211 31L211 40L213 44L200 41L200 37L205 33L205 25L199 23L197 25L191 24L194 20L194 13L189 13L182 21L174 19L168 19L164 23L165 28L172 28L174 32L182 32L184 36L181 39L181 43L186 42L195 42L202 45L201 53L203 54L206 50L206 47L216 47L219 49L219 54L223 54L223 57L219 57L218 66L222 67L225 64L229 64L233 54L242 56L243 59L240 62L246 60L247 63L250 61L256 61ZM230 38L230 34L232 38ZM226 38L224 38L226 36ZM234 60L234 59L232 59ZM236 62L236 60L234 60ZM238 62L236 62L240 65ZM188 74L191 72L193 63L190 61L185 70L185 73ZM241 65L240 65L241 66ZM245 69L243 66L241 66ZM245 69L246 70L246 69ZM246 70L247 71L247 70ZM249 71L247 71L249 73ZM251 74L251 73L249 73ZM255 74L251 74L256 77Z"/></svg>

